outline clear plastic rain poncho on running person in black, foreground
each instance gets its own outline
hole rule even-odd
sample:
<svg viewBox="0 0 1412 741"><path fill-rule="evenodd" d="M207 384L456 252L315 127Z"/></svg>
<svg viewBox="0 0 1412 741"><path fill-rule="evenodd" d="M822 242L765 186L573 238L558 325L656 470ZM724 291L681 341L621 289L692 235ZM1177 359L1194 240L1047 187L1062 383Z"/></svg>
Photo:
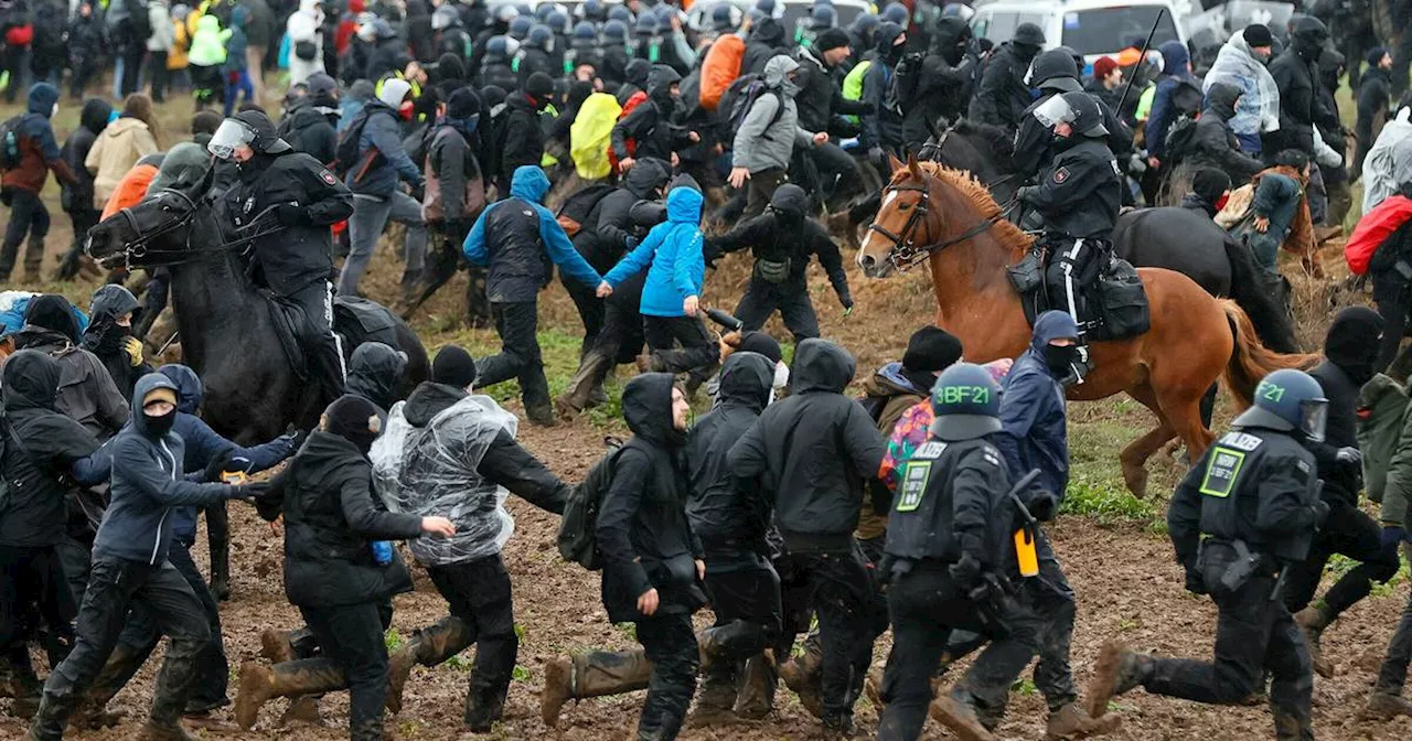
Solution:
<svg viewBox="0 0 1412 741"><path fill-rule="evenodd" d="M501 430L515 435L515 415L490 397L470 395L414 428L405 406L393 406L373 443L377 491L390 510L441 515L456 525L450 538L408 541L412 555L424 566L443 566L498 553L515 529L504 507L508 491L476 469Z"/></svg>

